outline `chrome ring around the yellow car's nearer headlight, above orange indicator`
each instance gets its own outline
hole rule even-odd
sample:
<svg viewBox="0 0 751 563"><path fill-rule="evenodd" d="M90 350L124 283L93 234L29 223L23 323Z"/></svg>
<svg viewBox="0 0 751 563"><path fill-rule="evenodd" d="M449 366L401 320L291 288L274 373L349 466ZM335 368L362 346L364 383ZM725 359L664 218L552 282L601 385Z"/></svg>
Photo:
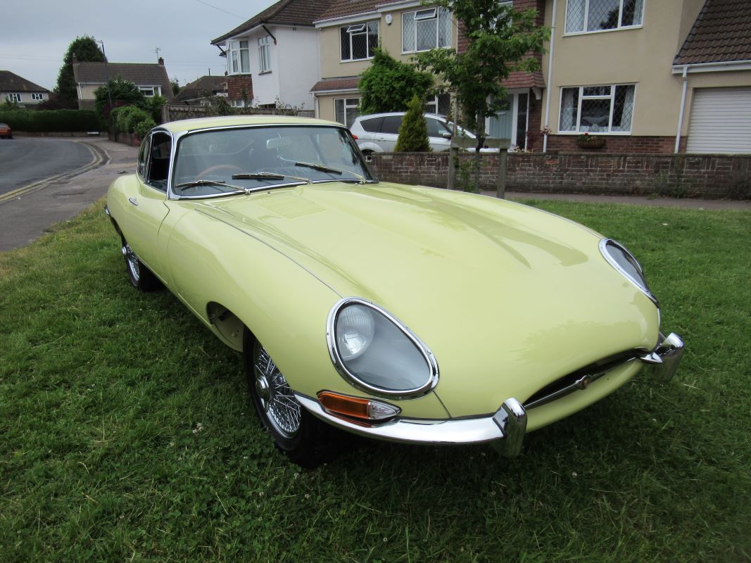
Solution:
<svg viewBox="0 0 751 563"><path fill-rule="evenodd" d="M348 369L346 360L342 357L342 353L339 351L339 345L336 342L336 321L339 318L339 312L348 306L358 305L371 309L373 312L382 315L386 321L390 322L412 345L415 346L418 353L421 355L425 362L425 378L424 382L409 389L387 389L379 387L377 385L364 381L362 377ZM386 399L416 399L430 393L438 385L439 369L436 357L433 356L433 352L425 345L421 339L418 338L412 330L409 330L399 319L391 315L388 311L371 303L367 300L363 300L360 297L345 297L339 300L330 310L327 322L326 322L326 341L328 345L329 354L336 371L339 375L348 381L353 387L369 393L373 396L379 396ZM366 351L360 352L360 354L366 354ZM354 360L359 357L360 354L351 358Z"/></svg>

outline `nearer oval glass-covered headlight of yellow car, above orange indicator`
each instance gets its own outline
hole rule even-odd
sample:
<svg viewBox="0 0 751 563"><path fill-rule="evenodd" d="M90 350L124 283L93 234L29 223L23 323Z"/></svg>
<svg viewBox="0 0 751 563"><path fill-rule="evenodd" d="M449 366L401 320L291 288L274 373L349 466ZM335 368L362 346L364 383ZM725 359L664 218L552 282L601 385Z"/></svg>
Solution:
<svg viewBox="0 0 751 563"><path fill-rule="evenodd" d="M366 300L348 297L333 306L327 341L339 374L367 393L406 398L438 384L433 353L397 318Z"/></svg>

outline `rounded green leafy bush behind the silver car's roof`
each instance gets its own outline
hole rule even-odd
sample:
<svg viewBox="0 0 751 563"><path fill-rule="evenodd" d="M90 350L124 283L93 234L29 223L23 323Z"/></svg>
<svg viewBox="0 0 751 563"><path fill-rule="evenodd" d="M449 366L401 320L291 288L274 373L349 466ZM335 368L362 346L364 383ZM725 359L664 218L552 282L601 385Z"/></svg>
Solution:
<svg viewBox="0 0 751 563"><path fill-rule="evenodd" d="M362 92L360 113L404 111L412 96L425 97L433 87L433 77L376 49L372 64L360 74L357 87Z"/></svg>

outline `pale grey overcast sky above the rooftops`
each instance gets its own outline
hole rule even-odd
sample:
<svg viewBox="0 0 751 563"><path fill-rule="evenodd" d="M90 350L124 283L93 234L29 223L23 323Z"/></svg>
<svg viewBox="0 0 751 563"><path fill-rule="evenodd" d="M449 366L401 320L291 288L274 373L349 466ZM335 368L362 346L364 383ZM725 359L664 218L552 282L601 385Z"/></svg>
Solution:
<svg viewBox="0 0 751 563"><path fill-rule="evenodd" d="M53 89L65 50L75 38L104 41L110 62L156 62L180 86L224 74L211 45L275 0L2 0L0 70ZM209 73L209 69L211 69Z"/></svg>

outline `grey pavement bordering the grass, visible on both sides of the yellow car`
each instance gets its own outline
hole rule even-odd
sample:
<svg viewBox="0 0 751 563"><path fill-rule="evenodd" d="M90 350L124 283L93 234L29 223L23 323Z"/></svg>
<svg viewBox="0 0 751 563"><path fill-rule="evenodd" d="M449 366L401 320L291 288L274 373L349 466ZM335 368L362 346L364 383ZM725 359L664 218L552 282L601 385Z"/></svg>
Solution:
<svg viewBox="0 0 751 563"><path fill-rule="evenodd" d="M0 195L0 251L25 246L44 233L51 224L73 218L107 193L107 187L122 173L135 170L138 148L113 143L103 138L79 140L100 155L91 170L72 178L61 177L39 182L31 191L9 200ZM486 191L494 196L495 192ZM671 199L668 197L625 197L584 194L544 194L508 192L512 200L568 200L591 203L625 203L644 206L684 207L691 209L743 209L751 211L751 202L732 200Z"/></svg>

